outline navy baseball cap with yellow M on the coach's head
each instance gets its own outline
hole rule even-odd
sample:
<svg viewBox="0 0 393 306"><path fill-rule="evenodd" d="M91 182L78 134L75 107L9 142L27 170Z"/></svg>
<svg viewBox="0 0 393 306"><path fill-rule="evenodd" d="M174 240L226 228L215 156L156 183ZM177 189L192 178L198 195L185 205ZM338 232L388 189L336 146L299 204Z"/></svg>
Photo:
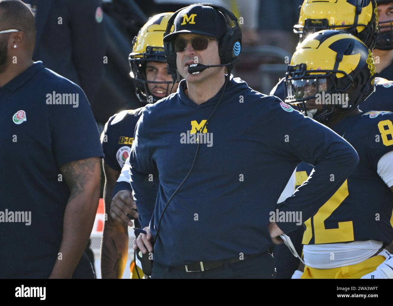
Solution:
<svg viewBox="0 0 393 306"><path fill-rule="evenodd" d="M227 31L226 19L213 7L195 4L184 7L174 19L174 31L163 38L164 42L175 40L180 33L213 36L220 39Z"/></svg>

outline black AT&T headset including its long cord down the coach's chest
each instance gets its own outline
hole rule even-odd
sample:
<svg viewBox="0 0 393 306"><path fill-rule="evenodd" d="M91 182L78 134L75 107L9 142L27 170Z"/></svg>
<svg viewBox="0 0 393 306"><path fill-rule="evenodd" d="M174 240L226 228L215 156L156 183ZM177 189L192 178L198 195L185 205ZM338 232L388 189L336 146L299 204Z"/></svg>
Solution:
<svg viewBox="0 0 393 306"><path fill-rule="evenodd" d="M221 64L220 65L210 65L210 66L208 65L208 66L206 66L206 65L202 65L202 64L197 64L196 66L188 68L188 72L189 73L199 73L200 71L203 71L203 70L205 70L206 68L209 68L209 67L223 67L223 66L227 66L228 67L228 77L226 77L226 80L225 80L225 83L224 83L224 88L223 88L222 93L220 95L220 99L219 99L217 105L215 106L213 112L210 114L209 118L206 120L204 126L202 126L201 131L203 131L205 126L208 124L210 118L213 116L213 114L217 110L217 107L219 106L219 104L220 104L220 102L222 100L222 97L224 96L225 89L228 86L228 83L229 83L229 80L230 80L230 73L231 73L231 70L233 69L233 63L235 61L237 61L239 59L239 57L240 57L242 31L240 29L239 23L237 22L236 16L231 11L228 11L226 8L224 8L224 7L220 6L220 5L206 4L206 3L200 3L200 4L213 7L213 9L216 9L219 12L223 13L225 19L227 20L227 23L228 23L228 18L226 17L226 15L228 15L230 20L232 20L234 22L234 24L235 24L235 26L233 26L233 27L228 26L227 33L225 33L223 35L223 37L220 39L220 41L219 41L219 55L220 55L220 60L221 60ZM183 7L182 9L184 9L184 8L185 7ZM164 33L164 36L170 34L171 28L173 26L174 19L176 18L176 15L178 15L178 13L180 11L182 11L182 9L179 9L178 11L176 11L172 15L172 17L168 20L167 29L166 29L166 31ZM174 52L173 44L171 42L164 42L164 50L165 50L165 56L167 58L168 74L171 73L172 78L173 78L173 84L174 84L174 82L176 81L176 76L177 76L176 52ZM171 92L172 92L172 89L171 89ZM193 160L193 163L192 163L192 165L190 167L190 170L188 171L188 173L185 176L184 180L180 183L180 185L173 192L171 198L169 198L168 202L166 203L166 205L165 205L165 207L164 207L164 209L163 209L163 211L161 213L160 219L158 221L158 225L156 227L156 229L157 229L156 230L156 235L154 237L154 240L152 241L153 250L154 250L154 245L155 245L155 243L156 243L156 241L158 240L158 237L159 237L160 225L161 225L161 221L162 221L162 218L164 216L164 213L165 213L169 203L171 203L171 201L174 198L174 196L176 195L176 193L184 185L185 181L189 178L192 170L194 169L195 161L196 161L196 158L197 158L198 152L199 152L199 148L200 148L200 142L198 142L198 145L196 147L194 160ZM146 255L149 256L148 253L143 254L142 256L146 256Z"/></svg>

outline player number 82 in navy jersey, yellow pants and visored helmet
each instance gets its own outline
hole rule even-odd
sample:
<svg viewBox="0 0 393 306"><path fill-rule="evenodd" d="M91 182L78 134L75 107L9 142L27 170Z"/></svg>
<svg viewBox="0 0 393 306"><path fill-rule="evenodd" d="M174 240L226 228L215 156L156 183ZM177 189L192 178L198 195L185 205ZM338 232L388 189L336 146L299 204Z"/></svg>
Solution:
<svg viewBox="0 0 393 306"><path fill-rule="evenodd" d="M288 66L286 102L332 128L360 158L337 192L304 222L303 279L393 278L393 113L358 108L373 93L375 73L371 50L333 30L307 37ZM298 165L297 185L308 183L312 168Z"/></svg>

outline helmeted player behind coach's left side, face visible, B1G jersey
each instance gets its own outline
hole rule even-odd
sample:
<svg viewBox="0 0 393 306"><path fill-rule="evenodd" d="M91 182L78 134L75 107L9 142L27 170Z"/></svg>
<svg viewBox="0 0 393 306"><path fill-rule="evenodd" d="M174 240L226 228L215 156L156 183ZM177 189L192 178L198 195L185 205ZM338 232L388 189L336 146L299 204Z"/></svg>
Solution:
<svg viewBox="0 0 393 306"><path fill-rule="evenodd" d="M136 95L144 103L154 103L166 97L170 90L176 91L178 84L172 84L172 77L167 73L167 63L163 49L163 33L167 22L173 13L162 13L152 17L139 31L132 44L129 55L131 66L130 75L135 82ZM173 88L172 88L173 87ZM101 135L101 143L105 158L103 168L105 172L104 204L108 220L105 221L103 242L101 247L101 275L102 278L121 278L128 257L128 229L127 226L116 222L110 214L112 191L118 180L121 169L129 156L136 123L143 111L124 110L109 118ZM128 183L128 185L130 185ZM114 201L127 202L134 205L130 189L120 192ZM135 218L135 227L140 227L138 214L130 211ZM130 221L130 226L132 226ZM131 262L132 278L143 277L141 269Z"/></svg>

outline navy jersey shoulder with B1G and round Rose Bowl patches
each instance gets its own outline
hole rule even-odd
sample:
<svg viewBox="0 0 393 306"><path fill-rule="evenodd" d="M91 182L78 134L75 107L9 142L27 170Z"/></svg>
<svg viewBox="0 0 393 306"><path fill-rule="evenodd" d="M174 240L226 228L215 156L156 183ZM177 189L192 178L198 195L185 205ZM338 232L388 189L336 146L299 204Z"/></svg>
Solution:
<svg viewBox="0 0 393 306"><path fill-rule="evenodd" d="M113 170L121 172L126 159L129 157L136 123L144 107L136 110L123 110L109 118L101 134L101 144L104 150L104 161Z"/></svg>

